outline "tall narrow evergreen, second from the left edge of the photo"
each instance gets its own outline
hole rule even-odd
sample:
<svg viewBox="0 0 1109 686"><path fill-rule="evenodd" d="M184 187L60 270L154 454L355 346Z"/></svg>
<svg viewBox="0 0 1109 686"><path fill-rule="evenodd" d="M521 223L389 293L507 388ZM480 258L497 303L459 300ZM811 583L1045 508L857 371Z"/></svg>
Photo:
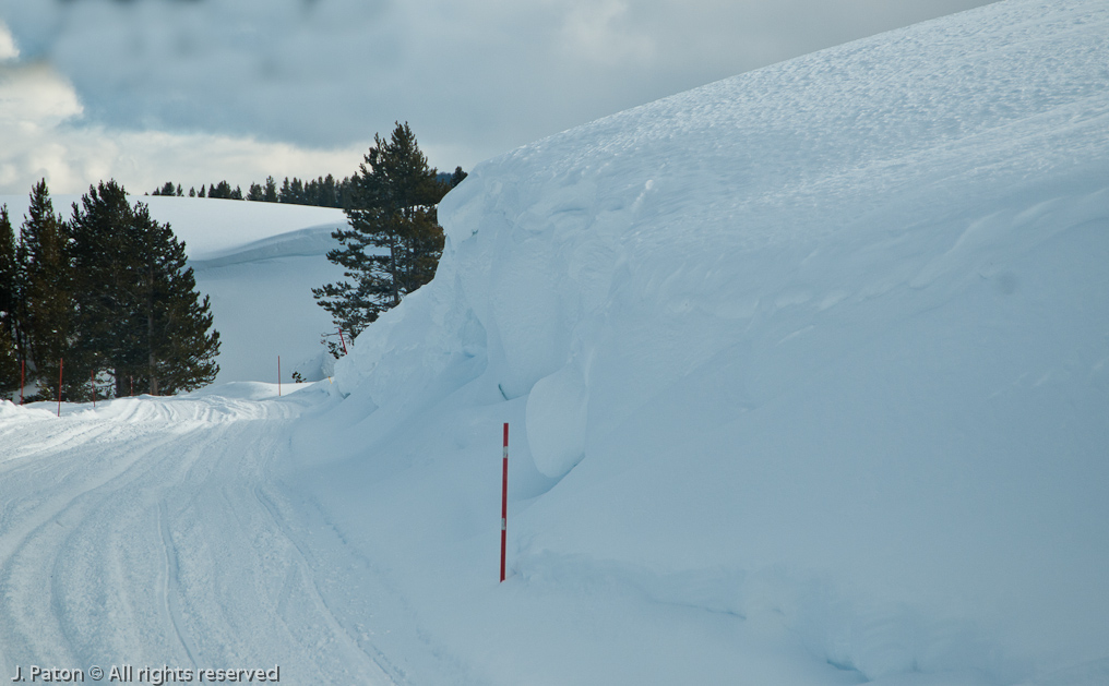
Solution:
<svg viewBox="0 0 1109 686"><path fill-rule="evenodd" d="M38 398L58 396L60 360L69 348L72 330L72 272L69 231L54 214L45 180L31 190L31 206L20 229L27 307L23 335L28 344L29 375L38 380ZM70 377L72 379L72 377ZM72 388L72 383L67 383Z"/></svg>

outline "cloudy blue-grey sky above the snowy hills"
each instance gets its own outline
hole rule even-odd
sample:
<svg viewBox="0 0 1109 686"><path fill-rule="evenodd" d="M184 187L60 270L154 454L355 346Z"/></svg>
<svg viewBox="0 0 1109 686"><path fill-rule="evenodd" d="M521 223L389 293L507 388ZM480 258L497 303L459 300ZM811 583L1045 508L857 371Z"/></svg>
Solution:
<svg viewBox="0 0 1109 686"><path fill-rule="evenodd" d="M987 0L0 0L0 194L476 163Z"/></svg>

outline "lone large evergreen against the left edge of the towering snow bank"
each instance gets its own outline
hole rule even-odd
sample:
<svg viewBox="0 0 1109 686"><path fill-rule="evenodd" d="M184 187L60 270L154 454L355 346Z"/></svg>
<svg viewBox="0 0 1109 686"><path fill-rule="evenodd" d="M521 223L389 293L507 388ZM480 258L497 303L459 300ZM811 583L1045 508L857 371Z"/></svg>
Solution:
<svg viewBox="0 0 1109 686"><path fill-rule="evenodd" d="M332 234L344 247L327 254L352 280L313 288L344 330L357 335L435 276L444 245L436 205L447 191L436 175L407 123L388 141L374 136L344 209L350 228Z"/></svg>

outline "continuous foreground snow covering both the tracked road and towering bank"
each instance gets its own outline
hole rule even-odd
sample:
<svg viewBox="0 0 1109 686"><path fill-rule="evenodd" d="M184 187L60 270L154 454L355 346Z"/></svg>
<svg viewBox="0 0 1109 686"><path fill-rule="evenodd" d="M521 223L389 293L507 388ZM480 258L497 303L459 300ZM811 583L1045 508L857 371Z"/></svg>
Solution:
<svg viewBox="0 0 1109 686"><path fill-rule="evenodd" d="M1109 683L1107 43L1009 0L623 112L476 167L334 383L0 408L0 662Z"/></svg>

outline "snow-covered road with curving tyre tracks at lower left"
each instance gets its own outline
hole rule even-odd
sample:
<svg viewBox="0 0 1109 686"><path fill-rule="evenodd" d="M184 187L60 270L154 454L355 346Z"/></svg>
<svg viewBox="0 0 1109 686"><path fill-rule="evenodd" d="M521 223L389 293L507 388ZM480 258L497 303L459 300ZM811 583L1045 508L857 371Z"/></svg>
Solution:
<svg viewBox="0 0 1109 686"><path fill-rule="evenodd" d="M130 664L279 666L292 683L404 680L370 632L335 612L352 610L336 601L337 560L313 559L326 532L317 535L314 510L294 505L283 481L293 421L313 395L260 399L263 385L244 388L255 392L63 406L60 419L43 403L7 406L0 663L9 678L32 665Z"/></svg>

